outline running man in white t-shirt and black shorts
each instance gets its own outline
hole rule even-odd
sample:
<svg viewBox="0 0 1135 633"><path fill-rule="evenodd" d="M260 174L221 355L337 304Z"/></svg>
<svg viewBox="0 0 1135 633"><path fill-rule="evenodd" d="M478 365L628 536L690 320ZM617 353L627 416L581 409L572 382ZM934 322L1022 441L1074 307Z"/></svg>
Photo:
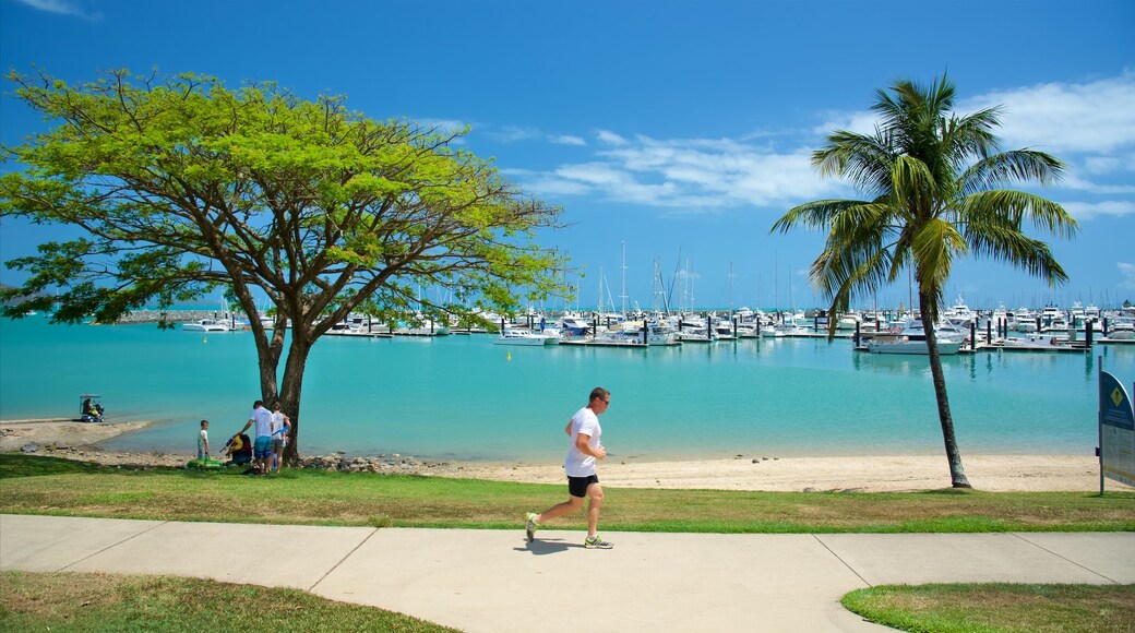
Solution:
<svg viewBox="0 0 1135 633"><path fill-rule="evenodd" d="M571 514L587 506L587 539L583 547L588 549L611 549L613 543L604 541L597 533L599 528L599 508L603 507L603 487L595 473L596 459L603 459L607 451L599 441L603 429L599 427L599 415L611 406L611 391L603 387L591 389L587 406L575 412L564 432L571 438L568 447L568 458L564 461L564 472L568 474L568 500L536 514L528 513L526 535L532 542L533 534L541 523L557 516Z"/></svg>

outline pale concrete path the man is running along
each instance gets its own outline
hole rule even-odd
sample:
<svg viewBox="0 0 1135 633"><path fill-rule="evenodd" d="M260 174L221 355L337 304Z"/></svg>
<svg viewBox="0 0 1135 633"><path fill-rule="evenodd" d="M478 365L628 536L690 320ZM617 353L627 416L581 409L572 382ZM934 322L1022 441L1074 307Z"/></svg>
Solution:
<svg viewBox="0 0 1135 633"><path fill-rule="evenodd" d="M884 583L1135 583L1135 533L655 534L0 515L0 569L293 586L470 632L884 631L840 597ZM255 543L288 556L266 559Z"/></svg>

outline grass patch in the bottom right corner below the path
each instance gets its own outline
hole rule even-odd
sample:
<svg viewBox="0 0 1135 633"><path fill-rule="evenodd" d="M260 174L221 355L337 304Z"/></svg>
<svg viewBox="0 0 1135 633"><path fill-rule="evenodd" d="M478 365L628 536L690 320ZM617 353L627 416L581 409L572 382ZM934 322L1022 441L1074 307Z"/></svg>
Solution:
<svg viewBox="0 0 1135 633"><path fill-rule="evenodd" d="M927 584L852 591L843 606L871 622L933 633L1129 633L1135 585Z"/></svg>

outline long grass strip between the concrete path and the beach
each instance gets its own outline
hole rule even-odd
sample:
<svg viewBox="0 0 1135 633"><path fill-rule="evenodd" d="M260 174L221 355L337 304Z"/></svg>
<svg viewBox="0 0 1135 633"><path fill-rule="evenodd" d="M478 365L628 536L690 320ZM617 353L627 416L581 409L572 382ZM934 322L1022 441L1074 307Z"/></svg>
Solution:
<svg viewBox="0 0 1135 633"><path fill-rule="evenodd" d="M606 488L608 531L718 533L1135 531L1135 493L738 492ZM563 486L287 470L125 470L0 455L0 512L414 528L516 528ZM579 529L582 514L552 528Z"/></svg>

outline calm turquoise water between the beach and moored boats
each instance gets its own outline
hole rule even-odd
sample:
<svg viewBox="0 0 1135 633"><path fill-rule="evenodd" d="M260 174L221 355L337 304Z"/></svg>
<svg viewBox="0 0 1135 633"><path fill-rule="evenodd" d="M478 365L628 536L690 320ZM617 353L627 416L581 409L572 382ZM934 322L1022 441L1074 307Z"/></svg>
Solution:
<svg viewBox="0 0 1135 633"><path fill-rule="evenodd" d="M493 345L490 336L327 337L308 363L305 454L560 459L564 424L595 386L612 456L646 458L938 454L925 357L856 353L846 339L760 339L673 348ZM966 453L1083 454L1096 445L1096 357L1125 385L1135 346L1085 354L980 352L944 358ZM157 424L107 446L192 453L258 397L250 332L0 323L0 419L75 416L101 394L109 419Z"/></svg>

